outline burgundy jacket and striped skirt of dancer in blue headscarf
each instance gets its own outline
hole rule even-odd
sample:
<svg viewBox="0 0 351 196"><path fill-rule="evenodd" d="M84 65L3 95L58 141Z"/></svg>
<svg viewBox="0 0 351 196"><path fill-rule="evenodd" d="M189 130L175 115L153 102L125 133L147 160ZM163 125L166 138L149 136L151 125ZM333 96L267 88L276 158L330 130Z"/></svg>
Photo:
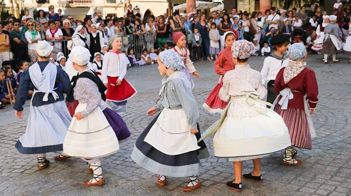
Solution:
<svg viewBox="0 0 351 196"><path fill-rule="evenodd" d="M274 90L280 94L280 92L285 88L290 88L293 98L289 99L286 110L283 110L282 106L276 104L274 111L284 119L284 122L289 129L292 146L312 149L311 133L313 133L312 131L314 131L314 128L313 125L312 128L309 126L308 121L311 118L309 115L309 108L315 109L318 102L318 84L316 74L313 70L305 67L299 73L292 73L296 76L285 84L285 69L286 67L283 67L278 72L274 82ZM277 103L280 101L280 99L282 99L282 96L277 98ZM308 104L305 105L306 100L308 100Z"/></svg>

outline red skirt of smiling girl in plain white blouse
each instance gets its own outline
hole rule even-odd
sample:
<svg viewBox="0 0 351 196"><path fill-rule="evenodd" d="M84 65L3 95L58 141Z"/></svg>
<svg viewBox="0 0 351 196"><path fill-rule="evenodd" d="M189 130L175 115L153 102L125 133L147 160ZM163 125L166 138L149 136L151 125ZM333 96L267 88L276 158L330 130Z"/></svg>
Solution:
<svg viewBox="0 0 351 196"><path fill-rule="evenodd" d="M124 102L137 93L134 87L124 78L122 79L121 84L117 86L117 79L118 77L108 76L106 100L112 102Z"/></svg>

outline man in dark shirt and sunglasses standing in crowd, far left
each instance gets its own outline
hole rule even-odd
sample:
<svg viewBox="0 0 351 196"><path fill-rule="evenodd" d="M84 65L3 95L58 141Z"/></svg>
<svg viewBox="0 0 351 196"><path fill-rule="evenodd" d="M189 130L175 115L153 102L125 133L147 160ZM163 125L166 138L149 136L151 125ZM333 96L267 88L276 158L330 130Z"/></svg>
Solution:
<svg viewBox="0 0 351 196"><path fill-rule="evenodd" d="M11 43L11 50L14 54L15 64L20 63L22 60L28 60L27 40L24 34L19 30L20 22L13 21L13 30L9 34Z"/></svg>

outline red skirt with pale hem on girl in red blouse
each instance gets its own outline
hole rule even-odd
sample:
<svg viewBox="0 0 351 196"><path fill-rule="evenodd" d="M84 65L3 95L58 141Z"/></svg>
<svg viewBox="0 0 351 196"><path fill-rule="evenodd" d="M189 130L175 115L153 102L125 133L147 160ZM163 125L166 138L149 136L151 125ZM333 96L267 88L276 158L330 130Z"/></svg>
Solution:
<svg viewBox="0 0 351 196"><path fill-rule="evenodd" d="M210 113L222 113L228 102L221 100L218 96L220 88L223 86L223 77L218 81L210 95L208 95L205 103L202 105Z"/></svg>

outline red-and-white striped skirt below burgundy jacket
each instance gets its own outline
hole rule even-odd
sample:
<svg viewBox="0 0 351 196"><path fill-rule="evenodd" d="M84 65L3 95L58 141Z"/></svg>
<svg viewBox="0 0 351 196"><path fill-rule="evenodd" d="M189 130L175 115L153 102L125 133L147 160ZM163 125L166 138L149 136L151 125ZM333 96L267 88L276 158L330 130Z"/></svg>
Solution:
<svg viewBox="0 0 351 196"><path fill-rule="evenodd" d="M307 124L305 111L293 108L281 110L278 104L274 111L282 116L289 130L291 144L298 148L312 149L311 132Z"/></svg>

